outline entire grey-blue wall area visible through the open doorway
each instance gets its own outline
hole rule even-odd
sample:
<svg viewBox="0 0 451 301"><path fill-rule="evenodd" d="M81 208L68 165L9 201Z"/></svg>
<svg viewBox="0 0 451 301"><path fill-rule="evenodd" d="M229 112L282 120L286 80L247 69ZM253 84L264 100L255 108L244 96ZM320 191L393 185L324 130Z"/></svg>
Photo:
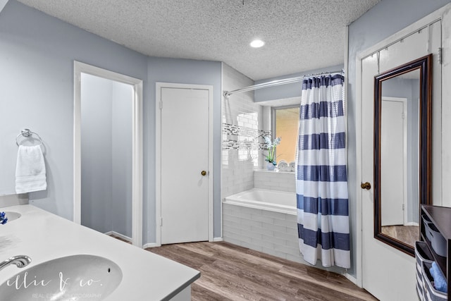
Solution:
<svg viewBox="0 0 451 301"><path fill-rule="evenodd" d="M82 225L132 237L132 86L82 73Z"/></svg>

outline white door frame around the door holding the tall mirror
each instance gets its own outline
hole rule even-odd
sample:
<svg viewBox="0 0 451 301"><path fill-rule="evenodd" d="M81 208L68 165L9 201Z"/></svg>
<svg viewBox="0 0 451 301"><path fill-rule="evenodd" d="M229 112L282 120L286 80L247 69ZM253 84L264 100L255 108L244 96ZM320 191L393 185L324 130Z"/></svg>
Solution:
<svg viewBox="0 0 451 301"><path fill-rule="evenodd" d="M409 35L412 35L414 32L418 32L424 27L427 27L428 25L431 25L432 23L435 23L438 20L442 20L442 37L445 37L445 30L446 26L450 24L450 9L451 4L446 4L445 6L438 8L438 10L433 11L428 16L425 16L424 18L421 18L420 20L416 21L415 23L412 23L411 25L404 27L404 29L396 32L395 34L391 35L390 37L383 39L383 41L378 42L377 44L373 45L372 47L369 47L368 49L365 49L363 51L359 51L355 58L355 70L356 70L356 99L355 99L355 124L356 126L356 162L357 162L357 168L356 168L356 212L357 212L357 237L356 237L356 284L359 285L359 287L362 288L363 286L363 276L362 276L362 269L363 269L363 254L362 254L362 218L363 218L363 211L362 211L362 193L363 190L360 188L359 183L366 182L366 180L362 179L362 127L358 125L362 125L362 61L367 57L371 56L371 54L376 54L377 51L381 51L382 49L385 49L386 47L390 46L390 44L394 44L395 42L400 41L404 37L407 37ZM444 47L445 45L442 44ZM445 64L442 65L443 73L442 73L442 82L445 82L447 72L445 72ZM447 88L443 85L442 90L443 92L451 92L451 88L449 90L446 90ZM449 112L451 111L450 106L443 107L443 111ZM435 113L438 113L439 115L443 114L443 112L440 111L434 111L433 109L433 115ZM440 118L441 119L441 118ZM435 127L435 123L433 124L433 127ZM445 128L445 123L443 125L438 127ZM444 136L442 136L442 139ZM440 156L441 157L442 148L433 150L433 156ZM442 176L443 175L443 176ZM443 171L433 171L433 176L438 181L442 182L445 178L451 179L451 172L450 175L445 175ZM440 186L440 185L439 185ZM438 191L436 191L438 192ZM440 192L440 196L443 192ZM441 199L441 197L440 197ZM441 202L441 200L439 201ZM434 204L437 204L434 201Z"/></svg>

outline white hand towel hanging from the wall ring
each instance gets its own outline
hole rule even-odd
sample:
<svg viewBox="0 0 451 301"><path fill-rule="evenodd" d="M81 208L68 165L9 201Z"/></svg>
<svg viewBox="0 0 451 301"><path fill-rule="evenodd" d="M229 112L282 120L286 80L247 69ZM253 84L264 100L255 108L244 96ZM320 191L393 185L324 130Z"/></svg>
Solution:
<svg viewBox="0 0 451 301"><path fill-rule="evenodd" d="M16 193L47 189L44 155L39 145L19 146L16 165Z"/></svg>

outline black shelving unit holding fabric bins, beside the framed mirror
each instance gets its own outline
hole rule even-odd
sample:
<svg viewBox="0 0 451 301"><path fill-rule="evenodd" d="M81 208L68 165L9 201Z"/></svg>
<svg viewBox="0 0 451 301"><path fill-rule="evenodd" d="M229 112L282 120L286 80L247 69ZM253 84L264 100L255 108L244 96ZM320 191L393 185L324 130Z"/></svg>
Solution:
<svg viewBox="0 0 451 301"><path fill-rule="evenodd" d="M432 248L431 241L426 237L426 229L424 228L423 223L423 215L428 216L431 219L432 223L437 227L438 231L447 241L447 256L443 257L435 253ZM449 207L440 207L440 206L431 206L431 205L421 205L421 214L420 214L420 233L421 240L426 242L429 250L431 250L432 256L434 257L435 262L437 262L438 267L442 271L443 275L446 276L447 285L448 285L448 293L447 299L451 300L450 293L450 271L451 271L451 208Z"/></svg>

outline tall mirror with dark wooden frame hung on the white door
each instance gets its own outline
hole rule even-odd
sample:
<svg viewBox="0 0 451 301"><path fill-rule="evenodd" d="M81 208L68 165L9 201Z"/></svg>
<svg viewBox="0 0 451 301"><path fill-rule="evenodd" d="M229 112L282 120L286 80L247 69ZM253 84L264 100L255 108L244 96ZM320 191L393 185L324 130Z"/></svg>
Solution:
<svg viewBox="0 0 451 301"><path fill-rule="evenodd" d="M374 78L374 238L412 256L431 204L431 59Z"/></svg>

